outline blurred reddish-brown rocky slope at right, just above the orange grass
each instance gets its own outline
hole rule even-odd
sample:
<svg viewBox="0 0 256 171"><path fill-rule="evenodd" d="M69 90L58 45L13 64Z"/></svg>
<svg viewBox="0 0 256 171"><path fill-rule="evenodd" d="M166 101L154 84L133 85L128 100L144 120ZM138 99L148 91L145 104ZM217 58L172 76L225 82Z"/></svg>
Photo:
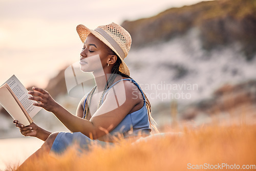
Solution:
<svg viewBox="0 0 256 171"><path fill-rule="evenodd" d="M188 105L181 112L182 119L196 119L197 115L212 116L228 113L229 115L252 115L255 120L256 80L249 80L236 85L225 84L216 90L211 98Z"/></svg>

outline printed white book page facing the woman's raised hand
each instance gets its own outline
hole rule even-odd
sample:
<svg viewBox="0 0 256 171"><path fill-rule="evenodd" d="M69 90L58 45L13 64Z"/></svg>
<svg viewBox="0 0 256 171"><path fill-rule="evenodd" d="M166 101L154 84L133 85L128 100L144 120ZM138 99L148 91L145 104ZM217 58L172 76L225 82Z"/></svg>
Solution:
<svg viewBox="0 0 256 171"><path fill-rule="evenodd" d="M41 110L40 107L33 105L33 103L36 101L29 99L29 96L31 95L28 94L28 90L23 86L23 84L17 79L15 75L9 78L5 83L7 83L11 88L31 118L33 118Z"/></svg>

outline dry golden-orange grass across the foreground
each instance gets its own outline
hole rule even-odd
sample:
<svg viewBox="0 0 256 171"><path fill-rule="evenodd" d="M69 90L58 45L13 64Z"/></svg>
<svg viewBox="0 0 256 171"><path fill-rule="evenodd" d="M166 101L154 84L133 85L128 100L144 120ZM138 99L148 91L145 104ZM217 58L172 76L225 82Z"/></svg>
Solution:
<svg viewBox="0 0 256 171"><path fill-rule="evenodd" d="M256 125L183 127L172 132L176 133L133 144L123 140L114 147L92 147L81 155L70 149L62 156L38 159L26 170L191 170L188 163L236 164L240 170L256 170L241 169L256 164ZM239 170L225 168L194 170Z"/></svg>

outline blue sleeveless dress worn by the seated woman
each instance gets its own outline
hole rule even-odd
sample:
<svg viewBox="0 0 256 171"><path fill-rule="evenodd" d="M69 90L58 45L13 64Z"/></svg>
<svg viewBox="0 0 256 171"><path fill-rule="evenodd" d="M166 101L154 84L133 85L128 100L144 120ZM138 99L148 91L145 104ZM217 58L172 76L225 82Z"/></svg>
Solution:
<svg viewBox="0 0 256 171"><path fill-rule="evenodd" d="M131 135L130 132L131 132L131 127L132 127L132 130L133 130L132 136L141 135L141 134L150 135L151 127L150 127L150 122L148 120L148 115L147 115L145 96L144 96L139 84L135 80L133 80L133 79L118 80L117 82L112 84L112 86L105 92L105 94L113 86L115 86L115 84L117 84L118 82L120 82L122 80L132 81L138 87L138 89L142 93L144 104L140 110L135 111L131 114L127 114L125 116L125 118L109 134L112 136L121 134L121 135L123 135L124 138L126 138ZM104 98L104 95L103 95L103 98ZM84 104L83 104L84 110L85 110L85 106L86 106L87 97L84 100ZM103 102L103 98L102 98L102 102ZM92 140L80 132L75 132L75 133L60 132L60 133L58 133L57 137L55 138L55 140L52 144L51 152L61 154L68 147L72 146L74 143L78 143L79 149L88 149L90 144L98 144L102 147L115 144L112 142Z"/></svg>

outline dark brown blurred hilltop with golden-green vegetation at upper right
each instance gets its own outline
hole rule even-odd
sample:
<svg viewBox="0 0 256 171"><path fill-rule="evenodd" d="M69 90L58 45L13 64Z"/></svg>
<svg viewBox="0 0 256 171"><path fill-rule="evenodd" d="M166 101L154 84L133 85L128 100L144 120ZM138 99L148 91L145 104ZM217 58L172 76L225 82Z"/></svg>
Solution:
<svg viewBox="0 0 256 171"><path fill-rule="evenodd" d="M133 47L167 41L191 28L200 31L204 49L239 42L247 59L256 53L256 1L220 0L171 8L156 16L125 21L122 26L131 33Z"/></svg>

